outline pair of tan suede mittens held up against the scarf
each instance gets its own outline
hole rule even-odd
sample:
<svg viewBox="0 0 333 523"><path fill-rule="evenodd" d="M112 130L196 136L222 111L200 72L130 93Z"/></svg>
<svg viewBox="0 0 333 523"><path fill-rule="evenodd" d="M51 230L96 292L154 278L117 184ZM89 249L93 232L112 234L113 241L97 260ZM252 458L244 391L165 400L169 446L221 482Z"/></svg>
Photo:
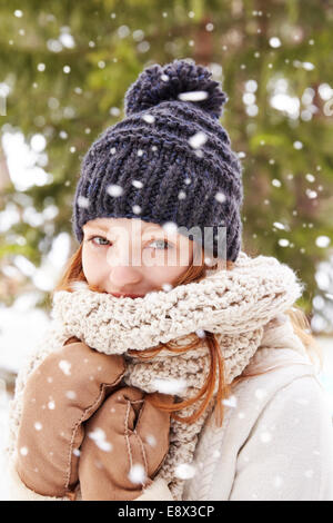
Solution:
<svg viewBox="0 0 333 523"><path fill-rule="evenodd" d="M169 450L170 414L122 383L123 356L70 338L31 374L24 391L17 472L31 491L75 500L135 500ZM42 430L41 430L42 428Z"/></svg>

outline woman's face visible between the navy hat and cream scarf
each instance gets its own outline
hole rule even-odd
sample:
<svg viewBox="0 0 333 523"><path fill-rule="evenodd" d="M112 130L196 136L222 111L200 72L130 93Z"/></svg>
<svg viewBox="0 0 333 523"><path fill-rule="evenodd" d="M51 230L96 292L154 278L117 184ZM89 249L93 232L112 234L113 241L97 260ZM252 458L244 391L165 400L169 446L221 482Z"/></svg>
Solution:
<svg viewBox="0 0 333 523"><path fill-rule="evenodd" d="M97 218L83 233L87 282L109 294L137 297L168 289L193 259L191 239L139 218Z"/></svg>

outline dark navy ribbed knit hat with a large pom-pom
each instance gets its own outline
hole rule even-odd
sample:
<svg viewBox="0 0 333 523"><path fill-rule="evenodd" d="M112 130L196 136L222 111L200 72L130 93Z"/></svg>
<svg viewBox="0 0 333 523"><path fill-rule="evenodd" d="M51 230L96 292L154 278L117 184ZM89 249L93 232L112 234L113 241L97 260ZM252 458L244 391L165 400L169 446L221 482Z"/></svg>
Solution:
<svg viewBox="0 0 333 523"><path fill-rule="evenodd" d="M82 160L72 227L102 217L140 218L234 262L241 249L242 166L219 118L228 100L193 60L145 68L124 97L125 118Z"/></svg>

